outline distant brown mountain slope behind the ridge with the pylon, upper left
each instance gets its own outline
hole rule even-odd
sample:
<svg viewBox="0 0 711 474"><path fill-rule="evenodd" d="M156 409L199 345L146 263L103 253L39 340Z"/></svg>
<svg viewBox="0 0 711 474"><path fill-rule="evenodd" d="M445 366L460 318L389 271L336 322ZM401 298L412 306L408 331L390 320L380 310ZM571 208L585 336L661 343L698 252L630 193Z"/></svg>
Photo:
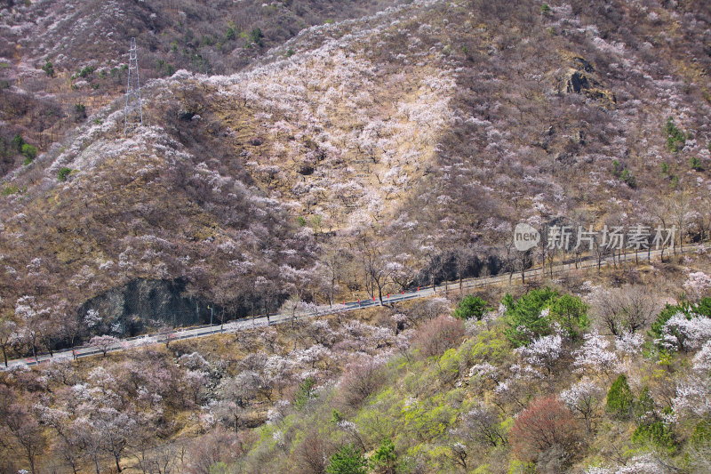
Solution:
<svg viewBox="0 0 711 474"><path fill-rule="evenodd" d="M40 151L124 92L131 37L140 77L232 74L301 29L395 2L90 1L0 4L0 174L20 166L16 134Z"/></svg>

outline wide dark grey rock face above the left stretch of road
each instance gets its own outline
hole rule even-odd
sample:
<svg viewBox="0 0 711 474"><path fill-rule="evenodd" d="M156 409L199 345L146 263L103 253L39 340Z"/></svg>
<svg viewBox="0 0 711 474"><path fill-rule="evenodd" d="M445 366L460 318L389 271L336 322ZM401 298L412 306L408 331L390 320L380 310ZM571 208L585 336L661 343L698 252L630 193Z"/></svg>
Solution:
<svg viewBox="0 0 711 474"><path fill-rule="evenodd" d="M210 301L185 294L179 280L135 279L86 301L77 316L89 320L91 333L133 336L162 325L198 325L210 322ZM96 311L98 321L86 315ZM93 313L96 314L96 313ZM215 308L215 315L220 314ZM217 319L216 319L217 320Z"/></svg>

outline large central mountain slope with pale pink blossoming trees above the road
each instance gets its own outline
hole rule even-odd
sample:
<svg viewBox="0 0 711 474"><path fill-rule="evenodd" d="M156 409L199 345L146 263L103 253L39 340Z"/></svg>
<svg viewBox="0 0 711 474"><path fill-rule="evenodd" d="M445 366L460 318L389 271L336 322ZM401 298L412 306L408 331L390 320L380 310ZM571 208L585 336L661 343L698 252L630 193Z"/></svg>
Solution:
<svg viewBox="0 0 711 474"><path fill-rule="evenodd" d="M134 278L185 278L233 314L399 291L513 268L516 221L653 226L682 191L699 209L683 238L704 237L692 32L708 19L704 3L414 2L309 28L233 76L149 81L149 126L124 138L117 100L5 179L5 311Z"/></svg>

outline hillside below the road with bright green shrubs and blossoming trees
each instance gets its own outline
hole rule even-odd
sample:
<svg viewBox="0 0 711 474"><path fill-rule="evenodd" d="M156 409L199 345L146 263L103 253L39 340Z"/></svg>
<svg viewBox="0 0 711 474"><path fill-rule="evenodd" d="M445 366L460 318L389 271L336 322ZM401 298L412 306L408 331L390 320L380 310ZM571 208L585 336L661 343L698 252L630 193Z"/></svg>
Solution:
<svg viewBox="0 0 711 474"><path fill-rule="evenodd" d="M709 274L687 252L17 366L0 469L707 472Z"/></svg>

